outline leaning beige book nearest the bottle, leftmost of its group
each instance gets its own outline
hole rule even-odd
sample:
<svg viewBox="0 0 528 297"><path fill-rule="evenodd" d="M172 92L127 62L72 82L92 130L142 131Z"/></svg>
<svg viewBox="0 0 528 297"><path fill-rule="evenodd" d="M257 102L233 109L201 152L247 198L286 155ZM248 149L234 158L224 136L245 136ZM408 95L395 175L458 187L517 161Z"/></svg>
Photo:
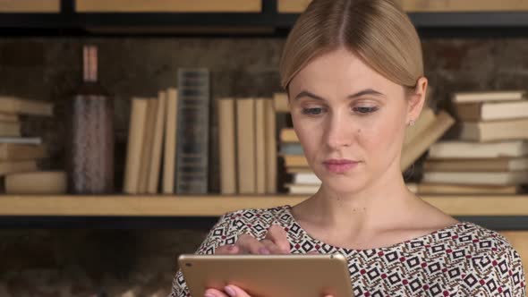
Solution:
<svg viewBox="0 0 528 297"><path fill-rule="evenodd" d="M123 191L137 194L140 182L140 166L143 149L143 135L149 99L132 98Z"/></svg>

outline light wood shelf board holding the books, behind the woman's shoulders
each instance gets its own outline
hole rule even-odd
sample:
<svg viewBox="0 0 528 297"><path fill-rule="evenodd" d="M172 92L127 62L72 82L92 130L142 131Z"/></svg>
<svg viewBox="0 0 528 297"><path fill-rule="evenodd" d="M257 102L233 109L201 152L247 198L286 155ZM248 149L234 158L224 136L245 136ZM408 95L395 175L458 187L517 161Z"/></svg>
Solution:
<svg viewBox="0 0 528 297"><path fill-rule="evenodd" d="M295 205L303 196L0 196L0 216L220 216ZM528 216L528 196L422 196L451 216Z"/></svg>

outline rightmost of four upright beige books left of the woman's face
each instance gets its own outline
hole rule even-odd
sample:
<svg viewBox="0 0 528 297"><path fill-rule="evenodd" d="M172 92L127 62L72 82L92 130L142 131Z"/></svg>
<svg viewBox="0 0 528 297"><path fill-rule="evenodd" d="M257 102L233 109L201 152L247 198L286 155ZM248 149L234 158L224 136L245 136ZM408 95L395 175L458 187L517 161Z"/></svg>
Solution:
<svg viewBox="0 0 528 297"><path fill-rule="evenodd" d="M273 100L266 100L266 192L277 192L277 135L276 111Z"/></svg>

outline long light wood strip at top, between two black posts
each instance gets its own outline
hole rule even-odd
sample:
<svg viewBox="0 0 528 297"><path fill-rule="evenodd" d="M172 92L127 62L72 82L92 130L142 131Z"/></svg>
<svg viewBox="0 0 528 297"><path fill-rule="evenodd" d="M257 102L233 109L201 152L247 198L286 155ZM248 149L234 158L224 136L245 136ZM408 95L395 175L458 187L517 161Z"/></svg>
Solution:
<svg viewBox="0 0 528 297"><path fill-rule="evenodd" d="M260 13L262 3L261 0L76 0L75 11L77 13Z"/></svg>

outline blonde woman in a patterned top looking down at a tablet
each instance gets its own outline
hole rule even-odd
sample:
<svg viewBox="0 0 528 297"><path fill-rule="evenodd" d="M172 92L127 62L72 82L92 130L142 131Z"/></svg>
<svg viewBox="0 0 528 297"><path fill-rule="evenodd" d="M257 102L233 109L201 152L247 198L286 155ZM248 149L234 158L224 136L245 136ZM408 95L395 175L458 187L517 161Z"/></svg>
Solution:
<svg viewBox="0 0 528 297"><path fill-rule="evenodd" d="M356 296L524 296L507 240L405 187L405 128L427 90L412 23L388 0L314 0L280 64L294 130L322 184L292 207L222 216L198 253L342 253ZM183 276L173 296L188 295ZM234 285L207 297L248 296Z"/></svg>

